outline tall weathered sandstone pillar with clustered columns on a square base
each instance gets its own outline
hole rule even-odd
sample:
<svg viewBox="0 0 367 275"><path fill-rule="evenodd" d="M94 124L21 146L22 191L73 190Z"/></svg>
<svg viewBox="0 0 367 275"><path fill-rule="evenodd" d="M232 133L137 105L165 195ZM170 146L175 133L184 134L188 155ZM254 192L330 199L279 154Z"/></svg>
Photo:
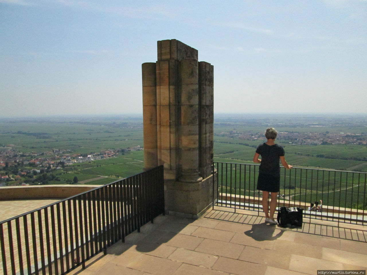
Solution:
<svg viewBox="0 0 367 275"><path fill-rule="evenodd" d="M142 64L144 168L164 167L166 213L197 218L213 194L213 66L175 39L157 49Z"/></svg>

